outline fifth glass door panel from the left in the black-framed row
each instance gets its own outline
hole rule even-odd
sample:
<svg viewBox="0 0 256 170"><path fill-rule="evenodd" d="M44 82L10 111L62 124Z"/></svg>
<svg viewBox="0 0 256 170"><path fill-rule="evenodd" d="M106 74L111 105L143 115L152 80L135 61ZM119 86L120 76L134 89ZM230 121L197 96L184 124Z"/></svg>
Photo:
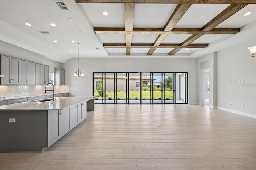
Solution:
<svg viewBox="0 0 256 170"><path fill-rule="evenodd" d="M149 104L150 103L150 97L151 93L151 77L150 73L141 73L141 103L142 104Z"/></svg>

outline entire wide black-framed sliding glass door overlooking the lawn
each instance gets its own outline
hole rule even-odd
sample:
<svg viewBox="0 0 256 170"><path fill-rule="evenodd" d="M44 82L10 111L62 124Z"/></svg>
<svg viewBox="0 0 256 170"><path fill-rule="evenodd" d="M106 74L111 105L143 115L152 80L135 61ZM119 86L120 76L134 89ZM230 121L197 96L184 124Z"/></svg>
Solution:
<svg viewBox="0 0 256 170"><path fill-rule="evenodd" d="M188 73L94 72L95 103L188 103Z"/></svg>

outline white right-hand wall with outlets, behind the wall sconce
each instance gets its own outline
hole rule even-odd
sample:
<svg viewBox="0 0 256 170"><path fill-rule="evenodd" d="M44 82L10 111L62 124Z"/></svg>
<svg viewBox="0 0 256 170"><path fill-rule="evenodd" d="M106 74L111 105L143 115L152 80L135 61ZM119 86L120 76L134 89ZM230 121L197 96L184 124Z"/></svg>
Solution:
<svg viewBox="0 0 256 170"><path fill-rule="evenodd" d="M256 118L256 57L248 50L255 45L253 39L218 51L216 66L217 107Z"/></svg>

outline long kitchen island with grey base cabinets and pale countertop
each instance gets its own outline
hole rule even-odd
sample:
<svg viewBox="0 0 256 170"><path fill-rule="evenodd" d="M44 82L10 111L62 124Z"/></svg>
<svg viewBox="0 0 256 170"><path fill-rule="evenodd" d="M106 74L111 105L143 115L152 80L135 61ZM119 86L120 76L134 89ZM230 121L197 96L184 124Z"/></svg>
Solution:
<svg viewBox="0 0 256 170"><path fill-rule="evenodd" d="M94 97L56 97L0 106L0 152L43 152L86 118Z"/></svg>

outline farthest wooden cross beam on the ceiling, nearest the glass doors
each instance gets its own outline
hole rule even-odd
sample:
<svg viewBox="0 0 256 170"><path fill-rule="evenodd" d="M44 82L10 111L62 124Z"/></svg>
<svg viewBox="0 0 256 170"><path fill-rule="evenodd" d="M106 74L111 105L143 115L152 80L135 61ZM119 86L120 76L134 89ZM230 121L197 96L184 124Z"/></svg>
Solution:
<svg viewBox="0 0 256 170"><path fill-rule="evenodd" d="M126 48L125 43L104 43L103 44L104 48ZM153 43L132 43L129 48L150 48L154 47ZM158 47L155 48L205 48L208 47L207 43L202 43L202 44L188 44L187 46L182 46L181 44L160 44Z"/></svg>

